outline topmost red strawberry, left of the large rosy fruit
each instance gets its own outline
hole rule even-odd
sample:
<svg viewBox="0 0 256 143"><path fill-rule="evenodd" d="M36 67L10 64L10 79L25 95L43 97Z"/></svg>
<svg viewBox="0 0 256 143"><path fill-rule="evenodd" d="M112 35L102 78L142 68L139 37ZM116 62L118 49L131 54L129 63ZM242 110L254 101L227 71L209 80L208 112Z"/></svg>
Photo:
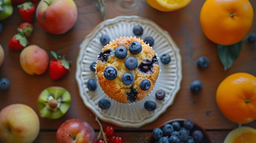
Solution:
<svg viewBox="0 0 256 143"><path fill-rule="evenodd" d="M18 5L18 8L20 8L20 16L25 22L33 22L36 8L32 2L24 2Z"/></svg>

